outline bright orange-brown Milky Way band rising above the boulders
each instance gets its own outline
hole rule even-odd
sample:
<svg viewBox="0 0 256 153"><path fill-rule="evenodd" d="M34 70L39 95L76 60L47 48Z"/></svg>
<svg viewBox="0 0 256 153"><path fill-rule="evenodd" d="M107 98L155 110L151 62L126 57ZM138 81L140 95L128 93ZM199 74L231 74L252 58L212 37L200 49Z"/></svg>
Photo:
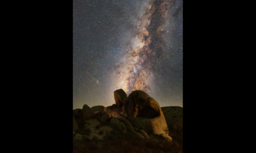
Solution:
<svg viewBox="0 0 256 153"><path fill-rule="evenodd" d="M136 20L137 33L124 52L124 62L117 68L119 87L129 95L134 90L143 90L150 93L151 80L156 73L158 61L165 50L168 5L164 1L148 1L141 7L141 12Z"/></svg>

